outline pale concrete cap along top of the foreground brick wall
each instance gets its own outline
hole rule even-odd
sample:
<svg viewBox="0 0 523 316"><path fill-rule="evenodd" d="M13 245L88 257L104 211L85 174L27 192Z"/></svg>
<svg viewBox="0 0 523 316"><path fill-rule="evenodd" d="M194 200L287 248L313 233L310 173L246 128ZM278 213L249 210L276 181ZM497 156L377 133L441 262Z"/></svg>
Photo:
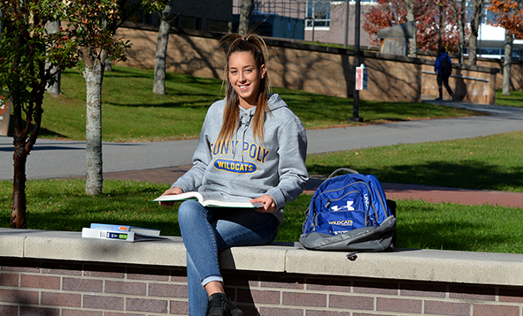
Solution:
<svg viewBox="0 0 523 316"><path fill-rule="evenodd" d="M360 252L315 252L299 243L234 247L220 252L226 269L339 275L389 280L456 282L523 286L523 254L396 249ZM98 263L185 267L181 237L128 243L82 238L81 232L0 229L0 257L37 260L77 260Z"/></svg>

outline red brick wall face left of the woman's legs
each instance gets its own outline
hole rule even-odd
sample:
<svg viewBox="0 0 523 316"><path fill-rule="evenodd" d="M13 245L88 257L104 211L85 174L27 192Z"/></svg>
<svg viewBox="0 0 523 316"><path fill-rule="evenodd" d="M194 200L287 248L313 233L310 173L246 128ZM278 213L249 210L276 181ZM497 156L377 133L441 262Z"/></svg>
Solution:
<svg viewBox="0 0 523 316"><path fill-rule="evenodd" d="M184 269L0 260L0 315L188 315Z"/></svg>

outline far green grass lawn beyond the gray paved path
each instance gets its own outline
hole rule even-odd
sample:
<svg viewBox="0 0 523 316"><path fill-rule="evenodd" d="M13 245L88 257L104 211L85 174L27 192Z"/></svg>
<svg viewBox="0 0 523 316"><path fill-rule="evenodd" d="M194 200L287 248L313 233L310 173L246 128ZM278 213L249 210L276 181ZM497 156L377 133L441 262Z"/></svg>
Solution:
<svg viewBox="0 0 523 316"><path fill-rule="evenodd" d="M153 71L113 67L105 72L102 131L104 141L150 141L197 138L207 109L223 98L221 81L167 73L166 95L152 94ZM43 104L41 138L85 139L85 80L79 71L64 71L62 92L47 94ZM284 88L274 93L288 103L307 129L360 123L352 117L352 99ZM473 115L464 109L428 103L365 102L359 109L363 124Z"/></svg>

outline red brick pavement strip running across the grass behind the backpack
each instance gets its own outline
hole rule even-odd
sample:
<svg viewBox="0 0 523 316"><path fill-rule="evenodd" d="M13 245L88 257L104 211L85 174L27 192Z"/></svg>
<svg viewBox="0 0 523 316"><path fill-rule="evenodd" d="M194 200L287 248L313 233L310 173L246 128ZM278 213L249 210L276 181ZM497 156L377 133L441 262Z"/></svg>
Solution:
<svg viewBox="0 0 523 316"><path fill-rule="evenodd" d="M149 181L172 184L190 166L162 169L143 169L135 171L104 173L104 179ZM323 179L311 177L305 193L312 194ZM499 205L504 207L523 207L523 193L484 190L465 190L427 185L383 183L387 199L422 199L427 202L450 202L465 205Z"/></svg>

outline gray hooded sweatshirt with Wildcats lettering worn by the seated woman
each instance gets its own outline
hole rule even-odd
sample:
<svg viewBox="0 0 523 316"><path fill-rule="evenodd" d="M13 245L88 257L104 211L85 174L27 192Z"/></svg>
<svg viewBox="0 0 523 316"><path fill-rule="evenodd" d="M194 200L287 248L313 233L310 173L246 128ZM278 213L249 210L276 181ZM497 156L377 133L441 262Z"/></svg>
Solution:
<svg viewBox="0 0 523 316"><path fill-rule="evenodd" d="M220 100L207 111L193 167L173 186L180 186L183 192L218 191L251 199L268 194L276 202L274 216L282 222L283 207L304 191L309 179L304 124L278 94L271 94L264 142L254 139L250 126L256 108L239 107L235 137L217 144L225 104Z"/></svg>

